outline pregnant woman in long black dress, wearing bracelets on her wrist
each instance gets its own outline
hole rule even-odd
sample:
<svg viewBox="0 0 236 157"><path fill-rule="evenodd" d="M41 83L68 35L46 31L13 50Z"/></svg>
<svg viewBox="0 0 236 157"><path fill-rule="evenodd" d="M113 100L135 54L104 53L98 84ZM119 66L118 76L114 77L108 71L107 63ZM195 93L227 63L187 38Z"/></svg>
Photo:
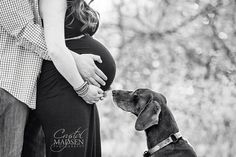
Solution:
<svg viewBox="0 0 236 157"><path fill-rule="evenodd" d="M108 78L101 89L108 90L115 76L115 63L109 51L91 37L98 27L97 14L83 0L41 0L40 11L52 61L59 60L57 56L60 54L50 52L49 45L63 47L64 39L65 45L78 54L99 55L102 63L96 65ZM71 77L63 77L60 66L59 62L44 60L38 81L36 114L45 134L46 156L100 157L97 107L86 102L98 101L102 90L81 80L80 75L79 87L76 88L76 83L69 83Z"/></svg>

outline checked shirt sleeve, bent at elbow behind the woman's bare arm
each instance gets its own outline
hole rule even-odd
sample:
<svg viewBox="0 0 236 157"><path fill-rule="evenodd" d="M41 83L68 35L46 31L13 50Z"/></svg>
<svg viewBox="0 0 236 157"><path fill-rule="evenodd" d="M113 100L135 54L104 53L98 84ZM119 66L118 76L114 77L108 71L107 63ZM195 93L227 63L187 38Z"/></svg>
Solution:
<svg viewBox="0 0 236 157"><path fill-rule="evenodd" d="M50 60L43 29L39 18L35 19L30 1L0 0L0 8L0 25L16 38L18 45L37 53L43 59Z"/></svg>

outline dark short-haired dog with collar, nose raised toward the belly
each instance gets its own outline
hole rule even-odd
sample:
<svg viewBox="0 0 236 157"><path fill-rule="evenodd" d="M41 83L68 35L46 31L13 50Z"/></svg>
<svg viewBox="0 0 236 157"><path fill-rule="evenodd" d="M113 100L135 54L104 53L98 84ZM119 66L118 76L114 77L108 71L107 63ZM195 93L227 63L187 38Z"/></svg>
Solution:
<svg viewBox="0 0 236 157"><path fill-rule="evenodd" d="M182 138L166 98L150 89L113 90L114 103L137 116L135 129L145 131L148 151L144 157L197 157Z"/></svg>

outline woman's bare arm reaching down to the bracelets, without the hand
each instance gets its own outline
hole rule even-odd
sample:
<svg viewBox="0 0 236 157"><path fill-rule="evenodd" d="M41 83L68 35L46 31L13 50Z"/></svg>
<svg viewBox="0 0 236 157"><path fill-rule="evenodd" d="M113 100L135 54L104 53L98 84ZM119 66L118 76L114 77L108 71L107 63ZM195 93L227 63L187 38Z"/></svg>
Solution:
<svg viewBox="0 0 236 157"><path fill-rule="evenodd" d="M76 63L65 45L64 19L66 0L40 0L40 12L44 21L45 40L55 67L74 87L83 84Z"/></svg>

